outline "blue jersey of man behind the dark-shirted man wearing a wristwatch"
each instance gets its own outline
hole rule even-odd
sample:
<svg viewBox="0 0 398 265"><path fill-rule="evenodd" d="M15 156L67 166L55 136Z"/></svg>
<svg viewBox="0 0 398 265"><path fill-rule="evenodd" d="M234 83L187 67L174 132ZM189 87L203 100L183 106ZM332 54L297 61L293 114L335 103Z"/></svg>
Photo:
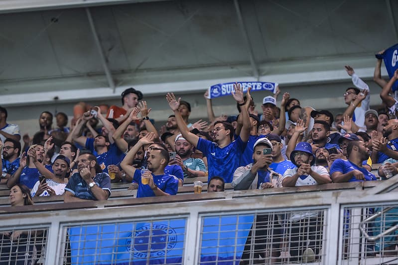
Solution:
<svg viewBox="0 0 398 265"><path fill-rule="evenodd" d="M86 148L91 150L92 152L94 151L94 138L87 138ZM108 166L117 165L125 158L125 156L126 155L122 151L120 151L118 146L114 143L109 146L107 152L101 155L97 154L97 162L98 165L100 165L102 171L104 173L108 173Z"/></svg>

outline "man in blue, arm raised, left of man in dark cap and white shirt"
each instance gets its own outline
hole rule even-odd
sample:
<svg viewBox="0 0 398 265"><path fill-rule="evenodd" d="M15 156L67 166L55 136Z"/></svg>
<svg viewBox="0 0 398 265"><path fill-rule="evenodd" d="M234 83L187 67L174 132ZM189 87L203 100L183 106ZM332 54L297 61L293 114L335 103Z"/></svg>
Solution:
<svg viewBox="0 0 398 265"><path fill-rule="evenodd" d="M42 145L32 145L29 151L34 151L36 154L36 160L40 163L44 160L44 147ZM45 165L45 168L52 172L51 165ZM28 188L33 188L34 184L39 180L40 172L26 154L22 154L22 158L19 161L19 168L15 173L7 179L7 187L11 188L16 183L26 185Z"/></svg>

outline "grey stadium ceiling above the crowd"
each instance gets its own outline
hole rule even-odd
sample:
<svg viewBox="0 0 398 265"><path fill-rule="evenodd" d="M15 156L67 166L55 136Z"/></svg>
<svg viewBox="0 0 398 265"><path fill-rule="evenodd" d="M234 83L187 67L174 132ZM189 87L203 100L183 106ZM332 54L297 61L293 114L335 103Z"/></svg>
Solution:
<svg viewBox="0 0 398 265"><path fill-rule="evenodd" d="M163 94L234 80L341 82L347 63L366 79L375 52L397 42L397 7L389 0L3 0L0 105L119 98L131 86Z"/></svg>

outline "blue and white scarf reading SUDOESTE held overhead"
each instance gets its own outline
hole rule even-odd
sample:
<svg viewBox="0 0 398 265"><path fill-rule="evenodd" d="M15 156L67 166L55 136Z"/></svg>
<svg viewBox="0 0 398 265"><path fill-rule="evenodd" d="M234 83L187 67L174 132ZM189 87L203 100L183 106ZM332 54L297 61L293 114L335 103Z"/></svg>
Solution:
<svg viewBox="0 0 398 265"><path fill-rule="evenodd" d="M258 90L268 90L272 91L272 93L276 92L276 87L278 86L278 83L271 83L271 82L238 82L241 84L243 91L246 92L248 88L252 88L253 91L258 91ZM211 86L209 88L209 98L215 98L215 97L220 97L220 96L225 96L225 95L230 95L231 91L234 90L234 84L233 83L224 83L224 84L217 84L214 86Z"/></svg>

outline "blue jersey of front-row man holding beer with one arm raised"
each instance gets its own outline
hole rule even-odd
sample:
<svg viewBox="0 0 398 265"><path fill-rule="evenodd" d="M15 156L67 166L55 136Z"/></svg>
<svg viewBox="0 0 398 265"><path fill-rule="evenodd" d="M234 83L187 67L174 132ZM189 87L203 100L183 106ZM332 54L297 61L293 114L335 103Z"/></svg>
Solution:
<svg viewBox="0 0 398 265"><path fill-rule="evenodd" d="M162 191L175 195L178 191L178 178L172 175L153 175L153 183ZM137 198L153 197L155 193L147 184L141 183L141 171L135 170L133 180L138 183Z"/></svg>

